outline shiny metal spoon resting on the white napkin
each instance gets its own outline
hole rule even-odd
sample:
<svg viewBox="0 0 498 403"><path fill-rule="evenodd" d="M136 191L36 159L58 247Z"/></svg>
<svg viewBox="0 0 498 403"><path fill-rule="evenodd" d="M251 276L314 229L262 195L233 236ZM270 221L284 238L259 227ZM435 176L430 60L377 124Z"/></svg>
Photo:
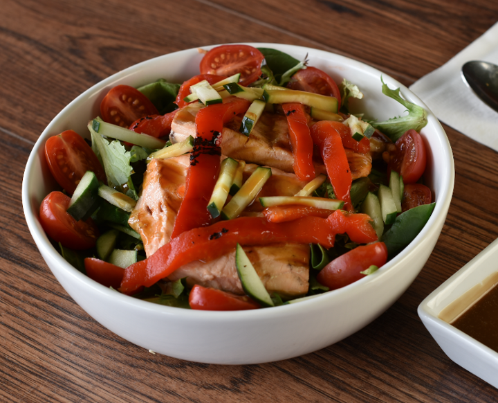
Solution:
<svg viewBox="0 0 498 403"><path fill-rule="evenodd" d="M462 73L474 93L498 112L498 66L488 62L466 62Z"/></svg>

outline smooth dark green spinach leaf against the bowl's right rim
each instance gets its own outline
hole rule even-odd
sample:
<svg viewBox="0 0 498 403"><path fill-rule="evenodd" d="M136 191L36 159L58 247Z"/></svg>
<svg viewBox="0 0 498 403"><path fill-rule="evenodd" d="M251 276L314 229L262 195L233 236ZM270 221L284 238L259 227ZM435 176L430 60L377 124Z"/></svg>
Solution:
<svg viewBox="0 0 498 403"><path fill-rule="evenodd" d="M382 236L382 242L386 244L389 258L400 253L422 231L434 210L434 206L436 203L423 204L410 208L396 217L394 224Z"/></svg>

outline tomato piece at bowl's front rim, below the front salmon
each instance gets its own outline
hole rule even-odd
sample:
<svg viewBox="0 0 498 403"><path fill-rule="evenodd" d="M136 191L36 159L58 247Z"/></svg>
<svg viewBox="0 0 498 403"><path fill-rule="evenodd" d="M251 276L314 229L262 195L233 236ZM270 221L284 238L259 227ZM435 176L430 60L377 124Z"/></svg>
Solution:
<svg viewBox="0 0 498 403"><path fill-rule="evenodd" d="M204 311L256 310L260 307L248 296L239 296L201 285L194 285L190 291L189 304L193 310Z"/></svg>

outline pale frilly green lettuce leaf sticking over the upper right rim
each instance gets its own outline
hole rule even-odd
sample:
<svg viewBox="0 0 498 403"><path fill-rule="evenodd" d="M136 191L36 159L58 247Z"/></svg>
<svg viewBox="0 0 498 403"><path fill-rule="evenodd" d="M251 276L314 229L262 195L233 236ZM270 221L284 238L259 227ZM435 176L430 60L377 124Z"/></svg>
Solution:
<svg viewBox="0 0 498 403"><path fill-rule="evenodd" d="M398 140L405 132L409 129L414 129L416 132L420 132L422 127L427 125L427 111L423 109L423 107L419 107L418 105L413 104L402 98L400 96L400 89L389 89L387 84L385 84L384 80L380 78L382 81L382 93L397 100L401 105L406 107L408 114L405 116L398 116L397 118L391 118L389 120L385 120L383 122L372 122L376 129L379 129L380 132L389 136L392 141Z"/></svg>

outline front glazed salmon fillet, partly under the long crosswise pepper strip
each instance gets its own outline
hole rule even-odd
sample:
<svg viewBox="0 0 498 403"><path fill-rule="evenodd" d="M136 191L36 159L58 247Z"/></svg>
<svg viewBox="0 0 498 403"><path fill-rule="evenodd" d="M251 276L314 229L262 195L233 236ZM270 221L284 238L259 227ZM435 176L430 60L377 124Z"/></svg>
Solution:
<svg viewBox="0 0 498 403"><path fill-rule="evenodd" d="M130 215L129 224L140 233L145 253L151 256L171 239L174 220L185 193L185 179L190 165L188 154L171 159L154 159L147 166L140 198ZM257 165L246 164L247 179ZM306 182L295 174L272 168L272 176L260 195L295 195ZM262 210L259 199L245 215ZM308 291L309 247L307 244L261 245L244 248L255 265L268 292L293 297ZM235 267L235 250L211 262L199 260L177 269L170 280L187 277L193 284L216 287L243 294Z"/></svg>

